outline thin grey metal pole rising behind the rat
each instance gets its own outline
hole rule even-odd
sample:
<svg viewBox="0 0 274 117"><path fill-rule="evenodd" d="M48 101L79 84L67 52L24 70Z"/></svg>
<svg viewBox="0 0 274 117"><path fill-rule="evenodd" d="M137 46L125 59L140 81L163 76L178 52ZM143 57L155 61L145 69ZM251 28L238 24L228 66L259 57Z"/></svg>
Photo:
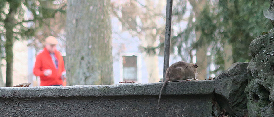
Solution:
<svg viewBox="0 0 274 117"><path fill-rule="evenodd" d="M166 33L164 45L164 73L163 81L166 80L166 69L169 67L169 50L170 50L170 35L171 35L171 15L172 15L173 0L166 0Z"/></svg>

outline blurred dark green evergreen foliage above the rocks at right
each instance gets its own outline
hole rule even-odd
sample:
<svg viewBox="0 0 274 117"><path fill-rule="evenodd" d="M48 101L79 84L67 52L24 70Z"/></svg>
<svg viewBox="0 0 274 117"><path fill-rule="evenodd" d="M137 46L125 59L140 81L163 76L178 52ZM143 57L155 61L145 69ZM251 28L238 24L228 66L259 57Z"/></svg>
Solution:
<svg viewBox="0 0 274 117"><path fill-rule="evenodd" d="M270 20L263 16L263 10L268 8L269 3L269 0L207 1L202 15L195 22L196 30L202 30L201 39L192 45L193 48L208 46L212 62L216 65L211 72L224 70L228 59L233 63L251 60L248 49L251 41L273 28ZM226 45L231 46L231 55L226 53Z"/></svg>

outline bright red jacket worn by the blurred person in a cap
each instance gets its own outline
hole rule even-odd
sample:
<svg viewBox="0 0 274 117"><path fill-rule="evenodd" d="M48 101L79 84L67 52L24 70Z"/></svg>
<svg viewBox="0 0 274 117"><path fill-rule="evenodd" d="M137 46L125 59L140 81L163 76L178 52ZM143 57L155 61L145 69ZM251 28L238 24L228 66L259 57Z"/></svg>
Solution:
<svg viewBox="0 0 274 117"><path fill-rule="evenodd" d="M50 56L50 52L46 48L44 48L44 50L36 56L33 74L40 77L40 86L63 85L61 75L62 72L66 71L64 60L59 51L55 50L54 54L58 60L58 69L56 69ZM50 76L44 75L44 71L47 69L51 69L52 71Z"/></svg>

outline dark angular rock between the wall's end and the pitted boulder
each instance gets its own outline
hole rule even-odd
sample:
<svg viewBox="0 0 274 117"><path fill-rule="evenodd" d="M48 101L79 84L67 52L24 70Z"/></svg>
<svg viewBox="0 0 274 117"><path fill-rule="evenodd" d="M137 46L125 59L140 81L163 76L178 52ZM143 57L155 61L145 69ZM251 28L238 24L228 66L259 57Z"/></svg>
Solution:
<svg viewBox="0 0 274 117"><path fill-rule="evenodd" d="M244 90L247 85L248 64L234 63L214 78L215 98L221 110L225 109L228 116L243 117L247 114L247 98Z"/></svg>

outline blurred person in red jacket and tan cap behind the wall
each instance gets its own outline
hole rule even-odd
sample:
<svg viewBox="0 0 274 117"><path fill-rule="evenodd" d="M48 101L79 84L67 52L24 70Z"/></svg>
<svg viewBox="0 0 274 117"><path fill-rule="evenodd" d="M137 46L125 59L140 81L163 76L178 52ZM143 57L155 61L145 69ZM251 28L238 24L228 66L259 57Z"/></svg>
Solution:
<svg viewBox="0 0 274 117"><path fill-rule="evenodd" d="M40 77L40 86L66 86L64 60L57 44L55 37L47 37L44 50L36 56L33 74Z"/></svg>

